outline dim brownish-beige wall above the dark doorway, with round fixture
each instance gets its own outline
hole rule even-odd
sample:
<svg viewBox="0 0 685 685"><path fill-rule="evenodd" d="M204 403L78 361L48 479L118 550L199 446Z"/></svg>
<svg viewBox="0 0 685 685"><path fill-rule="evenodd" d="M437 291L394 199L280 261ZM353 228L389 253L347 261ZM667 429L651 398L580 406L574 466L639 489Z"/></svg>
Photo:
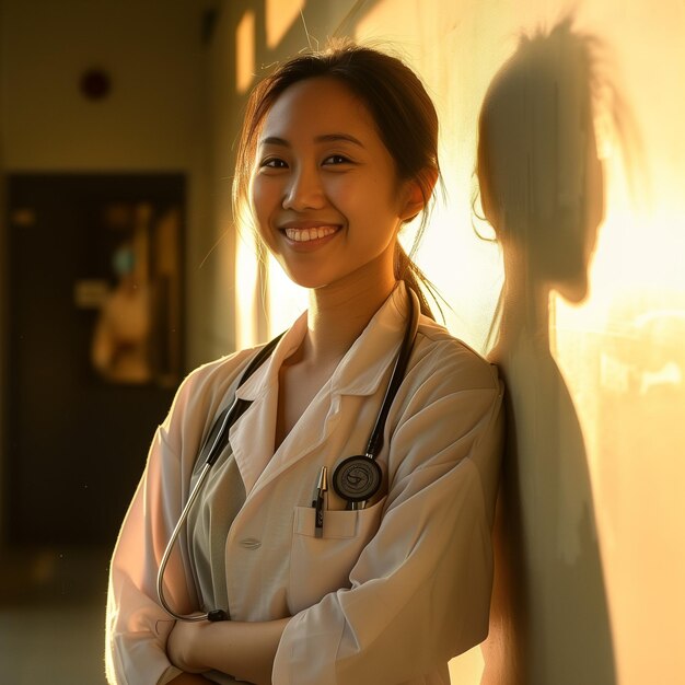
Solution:
<svg viewBox="0 0 685 685"><path fill-rule="evenodd" d="M3 0L7 166L187 167L200 100L194 4ZM89 102L78 89L93 66L112 74L104 102Z"/></svg>

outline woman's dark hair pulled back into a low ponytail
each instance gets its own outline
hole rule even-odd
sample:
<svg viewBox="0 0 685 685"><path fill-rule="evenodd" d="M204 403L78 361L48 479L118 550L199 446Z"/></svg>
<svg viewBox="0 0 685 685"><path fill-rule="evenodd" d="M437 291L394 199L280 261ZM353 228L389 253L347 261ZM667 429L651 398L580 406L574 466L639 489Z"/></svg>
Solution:
<svg viewBox="0 0 685 685"><path fill-rule="evenodd" d="M395 162L399 179L414 179L418 184L425 210L410 253L414 254L428 220L434 181L440 175L438 115L423 84L404 62L351 43L299 55L280 65L252 91L237 146L233 179L234 217L239 217L241 208L247 206L257 133L264 118L286 89L317 77L337 79L364 103ZM433 295L434 288L399 242L396 244L394 270L395 278L403 279L418 295L421 312L432 317L419 283Z"/></svg>

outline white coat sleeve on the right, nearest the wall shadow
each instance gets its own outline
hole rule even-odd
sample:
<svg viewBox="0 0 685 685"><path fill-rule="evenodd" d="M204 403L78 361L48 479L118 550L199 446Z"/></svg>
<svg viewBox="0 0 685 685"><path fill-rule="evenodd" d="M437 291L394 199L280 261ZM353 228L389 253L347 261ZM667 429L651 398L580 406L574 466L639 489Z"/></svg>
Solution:
<svg viewBox="0 0 685 685"><path fill-rule="evenodd" d="M458 372L436 369L408 402L391 438L379 531L351 587L291 619L275 685L397 685L487 636L502 391L492 372L450 387Z"/></svg>

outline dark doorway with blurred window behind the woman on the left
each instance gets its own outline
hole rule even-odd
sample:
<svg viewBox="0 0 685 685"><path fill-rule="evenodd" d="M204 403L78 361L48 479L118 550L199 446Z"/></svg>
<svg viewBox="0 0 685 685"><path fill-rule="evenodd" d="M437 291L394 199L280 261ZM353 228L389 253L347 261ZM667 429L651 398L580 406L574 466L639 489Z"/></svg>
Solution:
<svg viewBox="0 0 685 685"><path fill-rule="evenodd" d="M111 546L182 378L182 175L8 179L10 546Z"/></svg>

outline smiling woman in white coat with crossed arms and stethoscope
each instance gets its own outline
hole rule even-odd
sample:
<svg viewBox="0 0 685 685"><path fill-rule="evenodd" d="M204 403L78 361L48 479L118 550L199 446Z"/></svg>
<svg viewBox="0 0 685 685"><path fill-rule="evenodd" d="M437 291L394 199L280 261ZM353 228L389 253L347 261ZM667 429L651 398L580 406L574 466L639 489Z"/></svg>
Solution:
<svg viewBox="0 0 685 685"><path fill-rule="evenodd" d="M310 305L182 384L112 564L111 683L439 685L485 638L502 387L397 241L437 139L375 50L301 55L253 92L234 200Z"/></svg>

